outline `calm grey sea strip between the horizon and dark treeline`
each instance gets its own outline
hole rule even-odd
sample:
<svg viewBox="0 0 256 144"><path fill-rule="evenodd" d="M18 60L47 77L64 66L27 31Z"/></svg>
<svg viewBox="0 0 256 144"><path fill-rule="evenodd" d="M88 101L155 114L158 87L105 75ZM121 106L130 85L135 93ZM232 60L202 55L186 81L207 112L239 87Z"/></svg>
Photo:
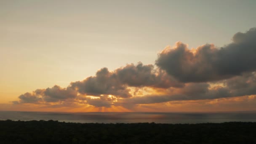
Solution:
<svg viewBox="0 0 256 144"><path fill-rule="evenodd" d="M6 112L0 120L58 120L74 123L223 123L256 122L256 112L156 113L156 112Z"/></svg>

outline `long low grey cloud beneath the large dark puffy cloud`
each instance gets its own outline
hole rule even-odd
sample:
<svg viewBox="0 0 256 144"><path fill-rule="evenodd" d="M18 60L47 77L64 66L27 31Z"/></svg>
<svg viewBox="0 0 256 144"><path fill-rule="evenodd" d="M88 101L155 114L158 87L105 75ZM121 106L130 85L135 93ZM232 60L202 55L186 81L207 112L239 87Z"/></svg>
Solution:
<svg viewBox="0 0 256 144"><path fill-rule="evenodd" d="M218 85L223 84L223 86ZM209 83L187 83L183 88L170 88L165 95L137 96L121 99L116 105L156 104L168 101L220 99L256 95L256 72L221 80L217 86Z"/></svg>

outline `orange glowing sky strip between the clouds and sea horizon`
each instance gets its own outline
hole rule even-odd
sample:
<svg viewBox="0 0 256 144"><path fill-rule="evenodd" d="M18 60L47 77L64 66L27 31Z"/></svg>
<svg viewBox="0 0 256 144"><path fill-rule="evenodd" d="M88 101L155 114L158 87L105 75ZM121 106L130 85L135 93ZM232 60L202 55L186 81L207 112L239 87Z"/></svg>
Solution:
<svg viewBox="0 0 256 144"><path fill-rule="evenodd" d="M37 112L232 112L255 111L256 95L213 100L169 101L157 104L138 104L133 109L111 106L94 107L88 104L72 107L49 107L39 104L1 104L3 111Z"/></svg>

